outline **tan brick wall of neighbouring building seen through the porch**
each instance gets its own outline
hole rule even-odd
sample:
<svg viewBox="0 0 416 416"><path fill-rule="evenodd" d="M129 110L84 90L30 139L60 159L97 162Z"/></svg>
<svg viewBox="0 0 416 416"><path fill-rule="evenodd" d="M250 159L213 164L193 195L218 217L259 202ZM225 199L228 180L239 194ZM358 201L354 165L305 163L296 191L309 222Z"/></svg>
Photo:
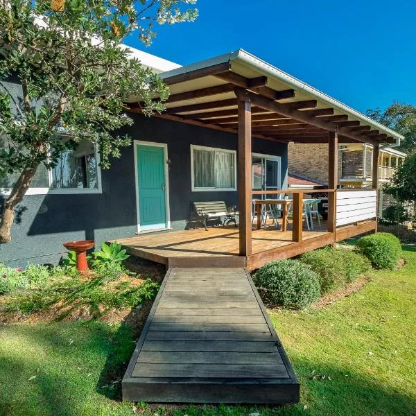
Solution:
<svg viewBox="0 0 416 416"><path fill-rule="evenodd" d="M289 143L288 171L328 182L328 145Z"/></svg>

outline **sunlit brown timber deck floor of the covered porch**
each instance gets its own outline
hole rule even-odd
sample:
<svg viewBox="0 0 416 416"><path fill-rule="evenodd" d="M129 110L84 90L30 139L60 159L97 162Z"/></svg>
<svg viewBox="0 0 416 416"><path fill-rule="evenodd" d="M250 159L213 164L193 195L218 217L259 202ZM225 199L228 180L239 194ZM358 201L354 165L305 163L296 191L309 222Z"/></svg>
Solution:
<svg viewBox="0 0 416 416"><path fill-rule="evenodd" d="M129 254L166 264L169 267L247 267L254 270L265 261L284 259L333 242L333 234L304 231L303 241L294 243L292 232L275 228L253 229L252 255L239 256L239 229L210 227L186 231L144 234L118 239Z"/></svg>

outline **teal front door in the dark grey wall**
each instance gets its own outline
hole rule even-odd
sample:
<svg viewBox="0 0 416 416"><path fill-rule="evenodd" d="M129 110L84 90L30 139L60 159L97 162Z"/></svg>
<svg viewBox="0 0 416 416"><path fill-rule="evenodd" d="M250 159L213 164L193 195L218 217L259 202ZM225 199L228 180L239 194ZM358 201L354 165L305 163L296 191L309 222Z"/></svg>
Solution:
<svg viewBox="0 0 416 416"><path fill-rule="evenodd" d="M136 145L140 230L166 227L164 148Z"/></svg>

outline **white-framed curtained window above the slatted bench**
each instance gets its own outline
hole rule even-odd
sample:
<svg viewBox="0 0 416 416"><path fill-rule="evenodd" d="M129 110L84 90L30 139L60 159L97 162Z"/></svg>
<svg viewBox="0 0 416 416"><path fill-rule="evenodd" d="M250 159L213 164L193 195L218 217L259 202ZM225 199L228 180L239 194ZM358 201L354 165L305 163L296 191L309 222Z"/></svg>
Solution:
<svg viewBox="0 0 416 416"><path fill-rule="evenodd" d="M192 191L236 191L236 151L191 145Z"/></svg>

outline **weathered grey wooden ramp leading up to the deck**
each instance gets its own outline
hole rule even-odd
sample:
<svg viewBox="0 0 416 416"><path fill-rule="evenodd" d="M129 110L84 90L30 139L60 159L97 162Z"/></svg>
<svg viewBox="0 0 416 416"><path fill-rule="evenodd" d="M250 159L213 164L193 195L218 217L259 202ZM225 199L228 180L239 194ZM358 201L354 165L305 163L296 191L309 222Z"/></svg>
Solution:
<svg viewBox="0 0 416 416"><path fill-rule="evenodd" d="M170 268L123 382L123 400L299 401L299 383L244 268Z"/></svg>

